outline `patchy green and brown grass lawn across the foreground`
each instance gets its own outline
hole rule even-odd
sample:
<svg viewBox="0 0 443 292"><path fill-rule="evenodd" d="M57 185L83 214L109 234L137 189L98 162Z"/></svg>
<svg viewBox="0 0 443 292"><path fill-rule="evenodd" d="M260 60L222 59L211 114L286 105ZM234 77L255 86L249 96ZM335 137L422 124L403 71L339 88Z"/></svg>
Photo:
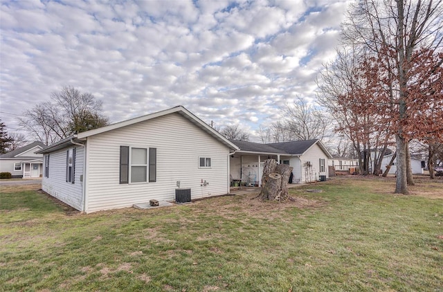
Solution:
<svg viewBox="0 0 443 292"><path fill-rule="evenodd" d="M341 178L289 203L91 215L35 186L1 188L0 291L442 291L443 181L394 187Z"/></svg>

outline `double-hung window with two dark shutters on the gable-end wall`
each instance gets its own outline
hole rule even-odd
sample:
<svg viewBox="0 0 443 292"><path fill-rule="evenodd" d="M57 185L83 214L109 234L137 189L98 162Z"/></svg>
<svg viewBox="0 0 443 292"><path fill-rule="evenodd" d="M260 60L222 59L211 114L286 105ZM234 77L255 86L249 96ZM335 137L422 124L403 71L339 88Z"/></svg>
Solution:
<svg viewBox="0 0 443 292"><path fill-rule="evenodd" d="M156 148L120 146L120 183L152 183L156 176Z"/></svg>

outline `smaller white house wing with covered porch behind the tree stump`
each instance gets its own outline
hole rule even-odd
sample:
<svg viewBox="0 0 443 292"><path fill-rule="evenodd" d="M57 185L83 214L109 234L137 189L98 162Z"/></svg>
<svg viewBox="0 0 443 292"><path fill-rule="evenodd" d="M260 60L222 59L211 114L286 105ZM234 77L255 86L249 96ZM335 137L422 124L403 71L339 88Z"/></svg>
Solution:
<svg viewBox="0 0 443 292"><path fill-rule="evenodd" d="M309 183L329 177L327 165L332 156L320 140L271 144L231 141L239 147L230 156L230 175L233 181L260 185L267 158L293 167L292 183Z"/></svg>

